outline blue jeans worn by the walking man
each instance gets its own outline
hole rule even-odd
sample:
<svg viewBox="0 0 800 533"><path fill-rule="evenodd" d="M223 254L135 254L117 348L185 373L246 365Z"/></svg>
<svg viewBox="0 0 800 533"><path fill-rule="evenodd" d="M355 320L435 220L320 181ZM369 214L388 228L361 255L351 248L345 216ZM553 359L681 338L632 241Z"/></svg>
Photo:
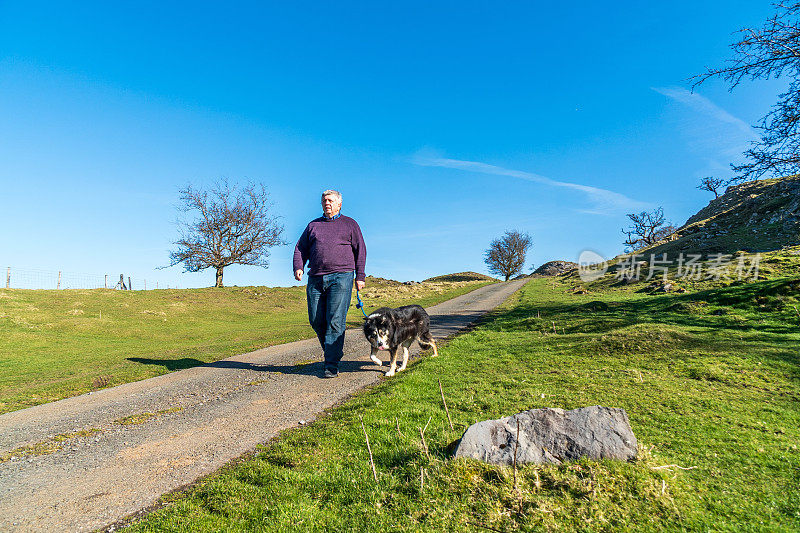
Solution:
<svg viewBox="0 0 800 533"><path fill-rule="evenodd" d="M308 321L325 354L325 368L334 372L344 355L347 309L353 294L353 272L308 276Z"/></svg>

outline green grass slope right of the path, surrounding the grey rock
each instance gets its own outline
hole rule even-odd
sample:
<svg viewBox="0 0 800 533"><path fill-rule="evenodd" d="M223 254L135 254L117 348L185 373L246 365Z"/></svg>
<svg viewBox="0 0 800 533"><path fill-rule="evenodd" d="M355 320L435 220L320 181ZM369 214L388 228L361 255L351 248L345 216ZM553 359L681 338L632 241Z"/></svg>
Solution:
<svg viewBox="0 0 800 533"><path fill-rule="evenodd" d="M167 496L131 529L800 530L797 270L675 295L573 284L532 280L441 357ZM515 487L510 468L450 458L478 420L596 404L627 410L636 463L527 465Z"/></svg>

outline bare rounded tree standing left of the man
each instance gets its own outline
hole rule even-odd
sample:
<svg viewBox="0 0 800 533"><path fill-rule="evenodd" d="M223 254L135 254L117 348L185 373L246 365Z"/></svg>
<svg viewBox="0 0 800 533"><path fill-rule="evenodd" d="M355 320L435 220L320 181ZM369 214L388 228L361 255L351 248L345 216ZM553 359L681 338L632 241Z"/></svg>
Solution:
<svg viewBox="0 0 800 533"><path fill-rule="evenodd" d="M192 220L178 222L180 239L169 254L169 266L183 263L185 272L214 268L214 286L222 287L226 266L267 268L269 248L286 244L281 240L280 217L272 214L263 184L248 183L238 189L223 179L210 190L187 185L180 195L180 209Z"/></svg>

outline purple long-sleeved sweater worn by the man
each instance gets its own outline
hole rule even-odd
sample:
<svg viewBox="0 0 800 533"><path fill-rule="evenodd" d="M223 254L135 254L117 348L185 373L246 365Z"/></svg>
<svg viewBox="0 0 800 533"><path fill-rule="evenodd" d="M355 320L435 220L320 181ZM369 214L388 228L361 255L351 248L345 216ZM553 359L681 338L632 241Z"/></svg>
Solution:
<svg viewBox="0 0 800 533"><path fill-rule="evenodd" d="M294 247L294 270L302 270L306 261L311 276L355 270L356 281L364 281L367 245L358 223L344 215L309 222Z"/></svg>

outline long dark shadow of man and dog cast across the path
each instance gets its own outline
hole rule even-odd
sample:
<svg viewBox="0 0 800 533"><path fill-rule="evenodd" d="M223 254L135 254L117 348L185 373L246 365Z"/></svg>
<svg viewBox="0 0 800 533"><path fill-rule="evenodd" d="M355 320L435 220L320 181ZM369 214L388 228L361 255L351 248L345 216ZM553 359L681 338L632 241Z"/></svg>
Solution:
<svg viewBox="0 0 800 533"><path fill-rule="evenodd" d="M127 360L143 365L160 365L170 372L173 370L183 370L186 368L209 367L229 368L232 370L252 370L255 372L272 372L274 374L287 374L295 376L321 376L325 371L325 366L322 361L294 363L291 365L269 365L228 360L204 363L203 361L190 357L184 357L181 359L148 359L145 357L128 357ZM384 371L388 370L388 368L389 367L386 364L379 367L371 361L342 360L339 362L340 373L369 371L383 373Z"/></svg>

